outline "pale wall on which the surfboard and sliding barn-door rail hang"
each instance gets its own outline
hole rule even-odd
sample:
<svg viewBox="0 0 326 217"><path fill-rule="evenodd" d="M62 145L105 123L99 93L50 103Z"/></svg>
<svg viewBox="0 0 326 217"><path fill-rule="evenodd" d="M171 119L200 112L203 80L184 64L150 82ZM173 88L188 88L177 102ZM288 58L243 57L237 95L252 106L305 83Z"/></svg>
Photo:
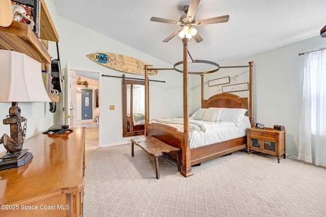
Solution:
<svg viewBox="0 0 326 217"><path fill-rule="evenodd" d="M140 75L123 73L101 66L86 57L87 54L98 51L131 56L154 65L155 68L173 68L159 59L58 16L53 1L46 0L45 2L60 37L59 51L62 67L65 66L67 60L70 60L71 68L99 70L103 75L122 76L125 74L126 77L143 78ZM103 28L110 28L110 26L103 26ZM180 42L180 49L182 47ZM50 43L49 49L52 53L56 53L56 44ZM53 54L52 57L57 58L57 54ZM155 76L149 76L149 79L166 81L165 83L150 82L150 119L164 116L181 117L183 114L182 74L175 71L161 71ZM121 79L102 77L99 81L99 93L99 129L102 136L100 147L129 142L130 137L123 138L121 133ZM110 110L110 105L114 105L115 110Z"/></svg>

